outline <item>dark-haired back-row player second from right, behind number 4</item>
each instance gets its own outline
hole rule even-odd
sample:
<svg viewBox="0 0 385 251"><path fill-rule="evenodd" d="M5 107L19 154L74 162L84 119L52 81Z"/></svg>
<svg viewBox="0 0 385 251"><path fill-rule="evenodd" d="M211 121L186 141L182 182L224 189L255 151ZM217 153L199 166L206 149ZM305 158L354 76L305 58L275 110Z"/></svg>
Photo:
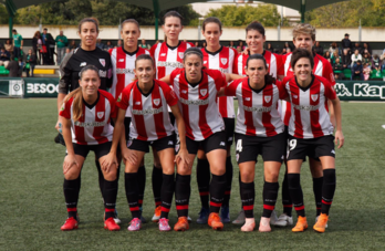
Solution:
<svg viewBox="0 0 385 251"><path fill-rule="evenodd" d="M283 79L283 69L281 67L281 56L263 49L266 42L264 28L260 22L253 21L246 28L246 43L248 45L248 54L240 53L236 57L235 73L238 75L246 75L247 61L250 55L262 54L269 70L269 75L275 79ZM240 180L239 180L240 182ZM239 186L240 187L240 186ZM271 215L271 223L274 224L277 221L275 211ZM240 211L237 219L232 221L235 224L244 223L244 211Z"/></svg>

